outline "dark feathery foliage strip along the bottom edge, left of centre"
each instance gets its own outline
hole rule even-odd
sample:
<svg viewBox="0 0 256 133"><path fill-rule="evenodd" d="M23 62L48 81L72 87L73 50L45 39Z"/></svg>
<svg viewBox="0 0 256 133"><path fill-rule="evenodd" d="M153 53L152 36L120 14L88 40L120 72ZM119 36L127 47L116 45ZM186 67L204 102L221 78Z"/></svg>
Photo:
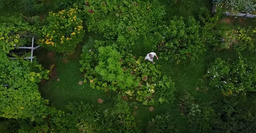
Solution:
<svg viewBox="0 0 256 133"><path fill-rule="evenodd" d="M35 122L33 127L23 122L19 133L140 133L128 103L121 97L109 100L98 105L97 110L83 102L69 103L67 108L70 113L50 107L44 121Z"/></svg>

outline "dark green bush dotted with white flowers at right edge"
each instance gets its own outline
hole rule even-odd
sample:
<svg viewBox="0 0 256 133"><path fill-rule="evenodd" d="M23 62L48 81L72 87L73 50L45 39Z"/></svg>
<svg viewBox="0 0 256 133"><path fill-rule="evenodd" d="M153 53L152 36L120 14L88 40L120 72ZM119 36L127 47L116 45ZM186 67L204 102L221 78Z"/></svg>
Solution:
<svg viewBox="0 0 256 133"><path fill-rule="evenodd" d="M209 86L221 90L225 96L246 94L246 91L256 91L255 63L242 59L231 62L217 58L207 69L206 78Z"/></svg>

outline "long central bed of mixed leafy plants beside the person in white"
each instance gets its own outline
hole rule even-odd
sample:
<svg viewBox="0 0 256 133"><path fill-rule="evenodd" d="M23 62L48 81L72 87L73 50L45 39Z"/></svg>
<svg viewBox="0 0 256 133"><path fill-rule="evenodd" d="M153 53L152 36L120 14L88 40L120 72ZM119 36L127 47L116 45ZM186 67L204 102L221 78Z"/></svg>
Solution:
<svg viewBox="0 0 256 133"><path fill-rule="evenodd" d="M109 44L109 43L108 43ZM95 50L83 48L81 72L84 82L92 88L105 91L119 91L120 94L135 97L144 105L156 105L173 99L174 83L159 71L160 65L145 62L143 57L116 50L116 44L107 45L95 40Z"/></svg>

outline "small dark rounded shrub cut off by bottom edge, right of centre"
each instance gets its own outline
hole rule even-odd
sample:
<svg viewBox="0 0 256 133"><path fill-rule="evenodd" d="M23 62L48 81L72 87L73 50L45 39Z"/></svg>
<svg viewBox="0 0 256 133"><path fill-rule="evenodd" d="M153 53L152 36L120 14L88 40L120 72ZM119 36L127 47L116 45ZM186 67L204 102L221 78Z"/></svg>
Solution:
<svg viewBox="0 0 256 133"><path fill-rule="evenodd" d="M178 133L176 126L170 114L161 114L148 122L146 133Z"/></svg>

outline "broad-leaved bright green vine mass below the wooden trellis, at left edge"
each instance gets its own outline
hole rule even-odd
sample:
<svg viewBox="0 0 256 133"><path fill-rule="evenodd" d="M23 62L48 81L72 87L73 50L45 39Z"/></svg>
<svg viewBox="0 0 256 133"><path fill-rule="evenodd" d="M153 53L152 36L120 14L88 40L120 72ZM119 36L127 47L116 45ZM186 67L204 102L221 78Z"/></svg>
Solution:
<svg viewBox="0 0 256 133"><path fill-rule="evenodd" d="M0 116L30 118L41 116L48 100L41 98L38 85L48 79L48 70L35 61L11 60L0 51ZM9 85L9 86L3 86Z"/></svg>

